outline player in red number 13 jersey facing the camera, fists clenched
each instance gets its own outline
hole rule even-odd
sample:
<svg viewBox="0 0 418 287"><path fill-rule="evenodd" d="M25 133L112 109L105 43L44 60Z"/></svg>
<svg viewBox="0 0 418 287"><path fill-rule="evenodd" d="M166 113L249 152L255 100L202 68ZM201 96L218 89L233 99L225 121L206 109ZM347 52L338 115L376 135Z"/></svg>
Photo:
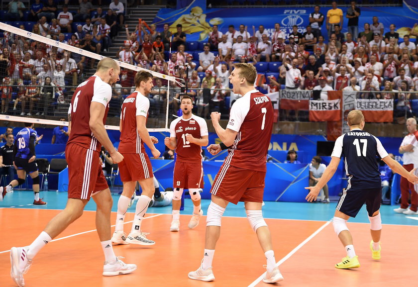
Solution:
<svg viewBox="0 0 418 287"><path fill-rule="evenodd" d="M170 231L180 230L180 206L184 189L189 189L193 200L193 215L189 228L195 228L203 215L199 188L203 188L202 146L208 144L206 120L192 114L193 99L183 96L180 108L183 115L170 124L170 137L164 139L169 149L176 149L173 178L173 219Z"/></svg>

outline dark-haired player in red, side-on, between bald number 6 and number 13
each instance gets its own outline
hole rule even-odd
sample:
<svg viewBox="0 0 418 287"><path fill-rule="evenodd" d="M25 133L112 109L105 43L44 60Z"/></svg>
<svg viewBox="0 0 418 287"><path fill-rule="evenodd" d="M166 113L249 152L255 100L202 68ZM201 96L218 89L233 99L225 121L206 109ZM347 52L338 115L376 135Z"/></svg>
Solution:
<svg viewBox="0 0 418 287"><path fill-rule="evenodd" d="M126 97L120 113L120 143L119 152L124 159L119 164L119 175L123 183L123 191L117 202L116 227L112 236L112 242L116 244L153 245L155 242L146 238L146 233L141 232L141 223L148 209L149 202L154 194L154 179L151 162L145 152L144 143L150 148L155 158L160 152L154 143L158 140L150 137L145 126L149 99L147 95L152 87L152 74L139 71L135 75L135 92ZM123 221L129 200L135 191L136 182L142 188L142 194L136 202L135 217L132 229L127 237L123 233Z"/></svg>

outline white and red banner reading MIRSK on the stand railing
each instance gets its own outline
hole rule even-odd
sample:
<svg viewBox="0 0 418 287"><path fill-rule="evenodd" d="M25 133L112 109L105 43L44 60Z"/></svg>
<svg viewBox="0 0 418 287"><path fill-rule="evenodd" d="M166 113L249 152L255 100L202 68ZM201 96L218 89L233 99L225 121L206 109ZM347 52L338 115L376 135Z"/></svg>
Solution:
<svg viewBox="0 0 418 287"><path fill-rule="evenodd" d="M341 120L340 99L310 100L310 121L339 121Z"/></svg>

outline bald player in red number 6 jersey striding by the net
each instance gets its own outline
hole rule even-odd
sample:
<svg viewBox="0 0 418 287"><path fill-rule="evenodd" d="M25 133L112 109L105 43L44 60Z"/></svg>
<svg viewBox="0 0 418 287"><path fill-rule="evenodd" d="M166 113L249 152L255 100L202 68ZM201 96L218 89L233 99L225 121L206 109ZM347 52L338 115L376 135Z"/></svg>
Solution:
<svg viewBox="0 0 418 287"><path fill-rule="evenodd" d="M123 160L104 129L111 98L110 85L119 80L119 73L119 65L110 58L104 58L98 63L96 73L74 92L71 100L72 129L65 149L69 176L67 206L49 221L32 244L11 248L10 275L19 287L25 285L23 274L32 264L33 257L83 214L84 206L92 196L97 204L96 228L105 257L103 276L128 274L136 270L136 265L123 263L113 252L110 241L112 197L99 156L103 145L114 163ZM68 250L62 252L68 253Z"/></svg>

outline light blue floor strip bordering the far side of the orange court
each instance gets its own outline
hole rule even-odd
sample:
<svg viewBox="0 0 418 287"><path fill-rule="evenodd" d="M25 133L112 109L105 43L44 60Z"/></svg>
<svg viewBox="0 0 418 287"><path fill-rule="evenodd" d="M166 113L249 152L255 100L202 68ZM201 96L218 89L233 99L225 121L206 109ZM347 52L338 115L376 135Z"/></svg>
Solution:
<svg viewBox="0 0 418 287"><path fill-rule="evenodd" d="M33 208L33 209L63 209L67 203L67 192L41 192L41 197L48 202L45 206L33 205L33 192L32 191L14 191L7 193L4 200L0 202L0 208ZM113 207L112 211L117 211L118 194L112 194ZM135 201L136 203L136 201ZM135 203L128 208L128 212L135 212ZM202 209L204 215L208 210L210 200L202 200ZM274 202L266 201L263 206L263 215L265 218L275 219L294 219L294 220L318 220L328 221L332 219L337 202L331 202L329 204L317 202ZM382 223L383 224L398 224L398 225L418 225L418 216L406 216L405 214L395 213L393 208L397 206L382 205ZM94 200L86 205L86 210L96 210L96 203ZM193 203L192 200L186 198L185 208L181 211L181 214L192 214ZM147 213L163 213L171 214L171 205L164 207L150 207ZM243 202L239 202L237 205L230 203L226 207L224 213L225 216L245 217L245 209ZM414 219L416 218L416 219ZM360 210L356 218L351 218L349 222L363 222L368 223L366 207Z"/></svg>

